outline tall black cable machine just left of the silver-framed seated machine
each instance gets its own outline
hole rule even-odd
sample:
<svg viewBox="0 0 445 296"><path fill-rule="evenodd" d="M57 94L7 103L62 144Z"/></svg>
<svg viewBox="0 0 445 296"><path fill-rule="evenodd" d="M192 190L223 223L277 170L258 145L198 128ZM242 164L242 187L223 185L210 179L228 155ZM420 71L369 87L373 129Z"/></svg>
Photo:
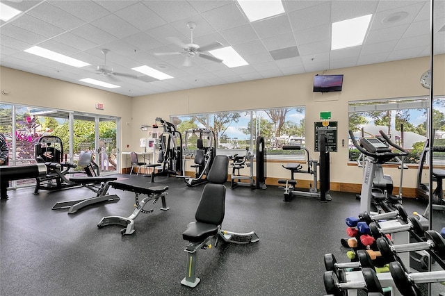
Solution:
<svg viewBox="0 0 445 296"><path fill-rule="evenodd" d="M182 172L182 135L176 130L175 124L156 117L163 127L163 133L159 135L160 149L158 163L161 163L161 170L152 172L154 176L179 175Z"/></svg>

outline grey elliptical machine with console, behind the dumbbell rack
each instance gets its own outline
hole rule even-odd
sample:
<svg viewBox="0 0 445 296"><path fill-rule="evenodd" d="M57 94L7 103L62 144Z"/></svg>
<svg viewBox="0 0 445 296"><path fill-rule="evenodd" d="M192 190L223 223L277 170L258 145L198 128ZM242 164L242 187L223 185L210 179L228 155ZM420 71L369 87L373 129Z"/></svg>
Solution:
<svg viewBox="0 0 445 296"><path fill-rule="evenodd" d="M401 204L401 194L393 195L393 182L391 176L383 174L383 163L387 163L392 158L401 159L401 170L403 172L403 156L409 152L403 147L389 139L388 135L379 131L381 136L363 137L357 143L353 131L349 135L353 144L365 156L362 191L360 192L360 213L371 213L371 202L377 208L378 213L395 211L391 204ZM391 151L391 147L400 152ZM402 178L401 178L402 186Z"/></svg>

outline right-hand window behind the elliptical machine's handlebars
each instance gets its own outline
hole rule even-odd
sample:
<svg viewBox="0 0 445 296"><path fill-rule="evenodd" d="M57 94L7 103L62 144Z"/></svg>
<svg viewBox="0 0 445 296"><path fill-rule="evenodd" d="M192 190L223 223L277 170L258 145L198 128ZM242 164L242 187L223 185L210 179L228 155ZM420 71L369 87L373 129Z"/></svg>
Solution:
<svg viewBox="0 0 445 296"><path fill-rule="evenodd" d="M419 163L427 140L428 97L407 97L373 101L350 101L349 129L358 140L362 136L379 135L379 130L410 151L407 163ZM432 110L435 145L445 145L445 97L435 97ZM403 133L401 126L403 125ZM350 142L349 161L356 161L359 151Z"/></svg>

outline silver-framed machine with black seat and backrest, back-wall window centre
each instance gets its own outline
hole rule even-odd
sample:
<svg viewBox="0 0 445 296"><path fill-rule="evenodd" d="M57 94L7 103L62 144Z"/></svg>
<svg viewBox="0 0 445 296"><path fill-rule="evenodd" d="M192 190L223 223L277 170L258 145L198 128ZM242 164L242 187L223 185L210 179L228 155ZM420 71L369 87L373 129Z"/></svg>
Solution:
<svg viewBox="0 0 445 296"><path fill-rule="evenodd" d="M190 149L191 140L196 138L196 149ZM211 163L216 155L216 136L209 129L188 129L184 137L184 156L182 164L182 175L188 187L197 186L207 182ZM195 148L195 147L193 147ZM186 176L186 163L193 159L191 167L195 169L195 176Z"/></svg>

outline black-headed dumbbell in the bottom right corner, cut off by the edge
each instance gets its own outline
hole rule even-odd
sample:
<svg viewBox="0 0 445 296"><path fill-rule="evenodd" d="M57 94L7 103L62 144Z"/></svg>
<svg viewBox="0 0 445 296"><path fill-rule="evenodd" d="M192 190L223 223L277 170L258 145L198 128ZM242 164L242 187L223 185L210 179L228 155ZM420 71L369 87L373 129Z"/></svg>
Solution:
<svg viewBox="0 0 445 296"><path fill-rule="evenodd" d="M439 283L445 281L445 270L407 274L398 261L389 263L389 271L396 287L403 296L422 295L416 286L418 283Z"/></svg>

